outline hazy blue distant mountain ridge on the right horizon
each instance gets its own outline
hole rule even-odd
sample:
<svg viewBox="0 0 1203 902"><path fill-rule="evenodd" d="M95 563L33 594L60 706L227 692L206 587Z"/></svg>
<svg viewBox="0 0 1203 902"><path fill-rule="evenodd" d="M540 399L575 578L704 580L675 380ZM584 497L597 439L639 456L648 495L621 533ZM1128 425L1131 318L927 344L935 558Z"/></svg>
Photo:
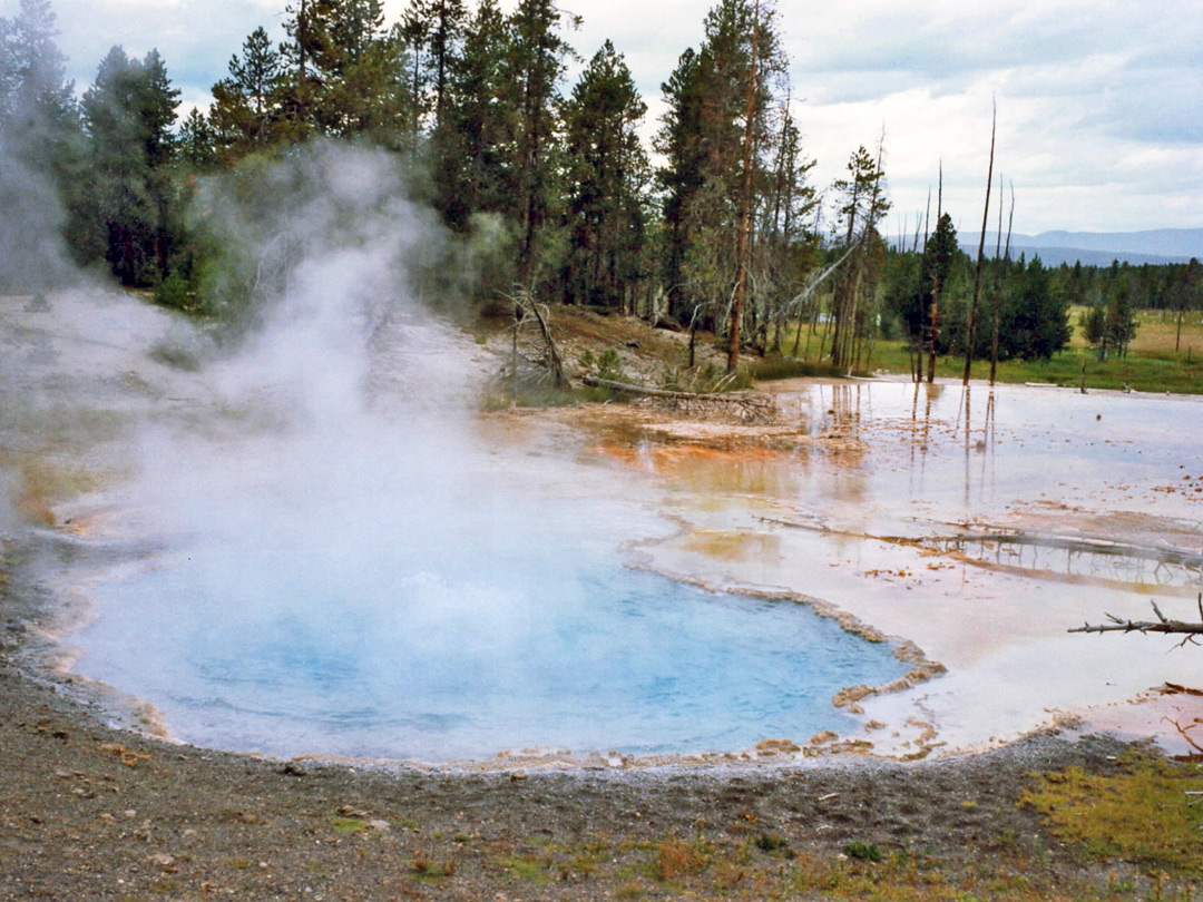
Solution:
<svg viewBox="0 0 1203 902"><path fill-rule="evenodd" d="M974 235L960 236L965 253L977 255ZM985 233L985 253L994 256L996 232ZM1006 242L1006 235L1003 235ZM1154 229L1146 232L1065 232L1012 235L1011 256L1039 256L1045 266L1061 266L1080 261L1083 266L1110 266L1113 260L1139 266L1142 263L1186 263L1191 257L1203 260L1203 229Z"/></svg>

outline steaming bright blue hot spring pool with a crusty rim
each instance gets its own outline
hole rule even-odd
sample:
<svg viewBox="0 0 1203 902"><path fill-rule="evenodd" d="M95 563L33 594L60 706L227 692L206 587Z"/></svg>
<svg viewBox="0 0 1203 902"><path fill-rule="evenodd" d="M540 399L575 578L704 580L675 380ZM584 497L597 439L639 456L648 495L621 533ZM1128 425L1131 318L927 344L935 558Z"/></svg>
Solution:
<svg viewBox="0 0 1203 902"><path fill-rule="evenodd" d="M203 553L108 582L79 672L155 705L192 743L440 762L805 741L855 725L831 702L841 688L907 669L802 604L614 565L336 584L257 563L241 595Z"/></svg>

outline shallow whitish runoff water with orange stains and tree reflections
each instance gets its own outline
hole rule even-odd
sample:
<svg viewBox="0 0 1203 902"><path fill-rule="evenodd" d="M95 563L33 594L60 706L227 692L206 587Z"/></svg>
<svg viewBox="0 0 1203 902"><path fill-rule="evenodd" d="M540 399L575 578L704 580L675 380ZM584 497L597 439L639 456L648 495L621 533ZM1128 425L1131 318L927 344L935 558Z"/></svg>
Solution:
<svg viewBox="0 0 1203 902"><path fill-rule="evenodd" d="M863 381L783 385L780 402L811 439L796 449L648 456L693 527L658 563L825 599L946 665L866 700L891 728L867 736L876 750L913 752L917 723L950 753L1066 716L1139 719L1137 735L1203 717L1187 696L1143 718L1131 704L1167 682L1198 687L1196 648L1068 633L1154 619L1151 601L1198 618L1203 400Z"/></svg>

